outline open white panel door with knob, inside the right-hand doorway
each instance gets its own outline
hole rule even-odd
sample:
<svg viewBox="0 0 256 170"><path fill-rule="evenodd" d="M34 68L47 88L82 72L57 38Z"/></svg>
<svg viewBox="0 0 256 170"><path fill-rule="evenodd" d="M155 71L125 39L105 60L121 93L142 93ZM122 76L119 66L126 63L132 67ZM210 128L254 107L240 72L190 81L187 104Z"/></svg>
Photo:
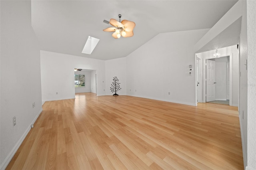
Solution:
<svg viewBox="0 0 256 170"><path fill-rule="evenodd" d="M215 61L206 60L206 102L215 100Z"/></svg>

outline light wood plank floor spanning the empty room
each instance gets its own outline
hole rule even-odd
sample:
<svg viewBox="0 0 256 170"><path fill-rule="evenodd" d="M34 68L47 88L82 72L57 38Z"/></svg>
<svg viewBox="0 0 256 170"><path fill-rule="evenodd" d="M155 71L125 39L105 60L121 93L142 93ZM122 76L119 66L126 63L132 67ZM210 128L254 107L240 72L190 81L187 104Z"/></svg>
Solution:
<svg viewBox="0 0 256 170"><path fill-rule="evenodd" d="M237 107L94 93L49 101L9 169L243 170Z"/></svg>

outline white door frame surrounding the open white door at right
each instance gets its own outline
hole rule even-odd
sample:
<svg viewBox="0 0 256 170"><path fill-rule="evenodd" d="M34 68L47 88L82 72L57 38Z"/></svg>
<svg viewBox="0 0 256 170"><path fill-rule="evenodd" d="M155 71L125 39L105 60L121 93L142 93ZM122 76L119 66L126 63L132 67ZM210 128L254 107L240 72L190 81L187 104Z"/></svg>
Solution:
<svg viewBox="0 0 256 170"><path fill-rule="evenodd" d="M229 99L229 105L232 106L232 88L233 88L233 53L226 54L226 55L221 55L220 57L228 57L229 56L229 61L230 61L230 67L229 67L229 76L230 76L230 89L229 89L229 94L230 94L230 99ZM220 58L218 57L218 58ZM203 58L203 66L202 66L202 80L203 80L203 85L202 85L202 103L206 102L206 59L214 59L214 57L206 57Z"/></svg>

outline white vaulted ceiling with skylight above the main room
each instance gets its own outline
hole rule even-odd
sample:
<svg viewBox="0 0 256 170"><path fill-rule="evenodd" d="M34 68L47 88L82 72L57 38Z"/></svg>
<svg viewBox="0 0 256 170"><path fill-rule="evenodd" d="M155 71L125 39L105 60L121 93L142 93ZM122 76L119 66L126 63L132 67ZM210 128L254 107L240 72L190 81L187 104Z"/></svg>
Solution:
<svg viewBox="0 0 256 170"><path fill-rule="evenodd" d="M126 57L159 33L212 28L236 2L237 0L34 0L32 27L42 50L108 60ZM114 39L112 33L102 31L111 26L103 23L103 20L118 20L118 14L122 14L121 20L136 23L133 37ZM225 35L227 33L229 32ZM100 39L90 55L82 53L88 36ZM220 42L221 37L218 38ZM223 45L225 44L220 44L222 47Z"/></svg>

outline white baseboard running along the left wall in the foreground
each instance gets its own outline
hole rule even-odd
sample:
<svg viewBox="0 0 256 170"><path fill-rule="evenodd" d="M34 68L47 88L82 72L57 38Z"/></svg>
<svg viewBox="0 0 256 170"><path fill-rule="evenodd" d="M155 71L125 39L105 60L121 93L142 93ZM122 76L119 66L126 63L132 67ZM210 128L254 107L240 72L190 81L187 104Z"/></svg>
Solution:
<svg viewBox="0 0 256 170"><path fill-rule="evenodd" d="M38 118L38 116L40 115L40 113L43 110L41 109L39 111L39 113L36 115L36 117L34 118L34 120L32 121L32 123L30 123L30 125L28 125L28 128L25 130L25 132L22 134L22 136L20 137L20 139L18 140L18 142L15 144L15 146L12 148L11 152L8 154L8 156L5 158L4 162L0 165L0 170L4 170L9 162L12 160L12 157L14 156L14 154L17 152L18 148L20 147L20 145L22 144L23 140L26 138L28 132L31 129L31 125L35 123L36 119Z"/></svg>

